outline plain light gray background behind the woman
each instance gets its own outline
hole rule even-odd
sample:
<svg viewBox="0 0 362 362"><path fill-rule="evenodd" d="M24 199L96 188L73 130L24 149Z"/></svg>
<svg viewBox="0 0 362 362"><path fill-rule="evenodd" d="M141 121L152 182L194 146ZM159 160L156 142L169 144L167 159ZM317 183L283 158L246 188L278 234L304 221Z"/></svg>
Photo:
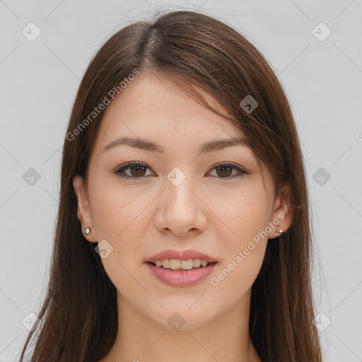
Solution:
<svg viewBox="0 0 362 362"><path fill-rule="evenodd" d="M62 142L88 62L122 26L157 9L185 8L202 8L233 25L278 74L308 173L317 241L313 284L317 313L324 313L317 323L325 329L325 359L362 361L362 1L4 0L0 362L17 361L28 332L22 321L45 296ZM30 22L41 30L33 42L22 33L35 35ZM332 31L323 41L315 32L325 37L326 28L319 25L313 33L320 22ZM25 174L29 168L40 175L33 185Z"/></svg>

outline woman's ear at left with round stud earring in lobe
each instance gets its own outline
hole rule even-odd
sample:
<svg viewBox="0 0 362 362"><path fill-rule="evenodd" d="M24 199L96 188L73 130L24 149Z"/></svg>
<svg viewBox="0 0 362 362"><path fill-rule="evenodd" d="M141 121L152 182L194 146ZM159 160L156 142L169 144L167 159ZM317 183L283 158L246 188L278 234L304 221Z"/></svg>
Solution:
<svg viewBox="0 0 362 362"><path fill-rule="evenodd" d="M88 192L83 177L79 175L75 176L73 178L73 187L78 202L76 216L78 216L78 220L81 222L83 236L91 243L95 243L97 241L97 238L95 235L95 229L93 227L91 207L89 206L88 201ZM84 229L87 227L91 229L91 233L89 233L88 235L84 233Z"/></svg>

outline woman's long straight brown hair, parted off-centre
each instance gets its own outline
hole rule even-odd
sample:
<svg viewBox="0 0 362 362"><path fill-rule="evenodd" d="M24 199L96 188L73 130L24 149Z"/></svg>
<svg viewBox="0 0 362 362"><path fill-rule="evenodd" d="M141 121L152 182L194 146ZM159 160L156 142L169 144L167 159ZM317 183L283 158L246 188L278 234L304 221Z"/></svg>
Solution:
<svg viewBox="0 0 362 362"><path fill-rule="evenodd" d="M127 25L100 47L83 76L64 139L59 213L49 285L38 313L41 322L30 332L20 361L30 341L32 362L97 362L115 342L116 289L94 244L83 237L72 180L87 176L103 112L86 127L80 124L135 69L168 76L218 112L194 86L202 87L250 140L269 168L276 192L284 182L290 185L293 223L279 240L268 242L252 285L250 337L262 361L322 361L312 323L308 189L291 108L271 66L251 42L222 21L193 11L166 12L154 21ZM257 100L253 112L240 106L247 95Z"/></svg>

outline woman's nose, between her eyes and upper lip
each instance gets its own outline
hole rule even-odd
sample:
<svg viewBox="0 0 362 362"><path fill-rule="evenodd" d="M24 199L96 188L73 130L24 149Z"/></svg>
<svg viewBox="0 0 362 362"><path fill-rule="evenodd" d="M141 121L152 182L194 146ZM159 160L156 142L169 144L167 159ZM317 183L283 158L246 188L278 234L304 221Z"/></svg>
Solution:
<svg viewBox="0 0 362 362"><path fill-rule="evenodd" d="M158 197L155 226L177 236L197 235L206 228L207 207L187 177L178 186L169 182Z"/></svg>

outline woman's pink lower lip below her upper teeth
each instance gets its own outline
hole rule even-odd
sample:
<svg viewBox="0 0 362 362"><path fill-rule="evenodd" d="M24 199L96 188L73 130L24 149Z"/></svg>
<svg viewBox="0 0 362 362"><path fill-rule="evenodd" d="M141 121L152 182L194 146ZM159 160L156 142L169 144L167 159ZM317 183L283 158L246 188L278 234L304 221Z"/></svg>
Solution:
<svg viewBox="0 0 362 362"><path fill-rule="evenodd" d="M156 267L149 262L146 262L148 268L151 270L154 276L163 283L170 286L192 286L199 283L208 276L217 263L206 265L206 267L200 267L193 270L173 270Z"/></svg>

